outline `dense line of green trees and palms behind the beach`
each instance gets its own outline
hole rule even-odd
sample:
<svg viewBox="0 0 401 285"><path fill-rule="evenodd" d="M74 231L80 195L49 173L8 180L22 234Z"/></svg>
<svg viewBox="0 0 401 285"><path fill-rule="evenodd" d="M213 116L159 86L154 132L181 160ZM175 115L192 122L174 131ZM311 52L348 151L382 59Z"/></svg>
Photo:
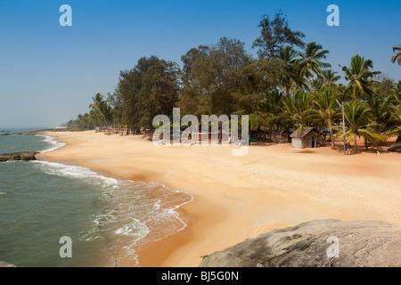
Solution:
<svg viewBox="0 0 401 285"><path fill-rule="evenodd" d="M69 127L114 126L150 128L158 114L250 115L250 130L315 126L337 132L347 142L363 137L380 144L401 134L401 81L382 76L373 62L356 54L343 74L325 62L328 50L290 28L278 12L265 15L260 37L252 45L254 58L238 39L222 37L185 53L182 68L156 56L139 59L119 74L113 94L96 94L90 112L71 120ZM395 45L391 61L401 64ZM346 84L338 83L341 76ZM344 103L345 133L341 124ZM334 144L332 143L332 147Z"/></svg>

